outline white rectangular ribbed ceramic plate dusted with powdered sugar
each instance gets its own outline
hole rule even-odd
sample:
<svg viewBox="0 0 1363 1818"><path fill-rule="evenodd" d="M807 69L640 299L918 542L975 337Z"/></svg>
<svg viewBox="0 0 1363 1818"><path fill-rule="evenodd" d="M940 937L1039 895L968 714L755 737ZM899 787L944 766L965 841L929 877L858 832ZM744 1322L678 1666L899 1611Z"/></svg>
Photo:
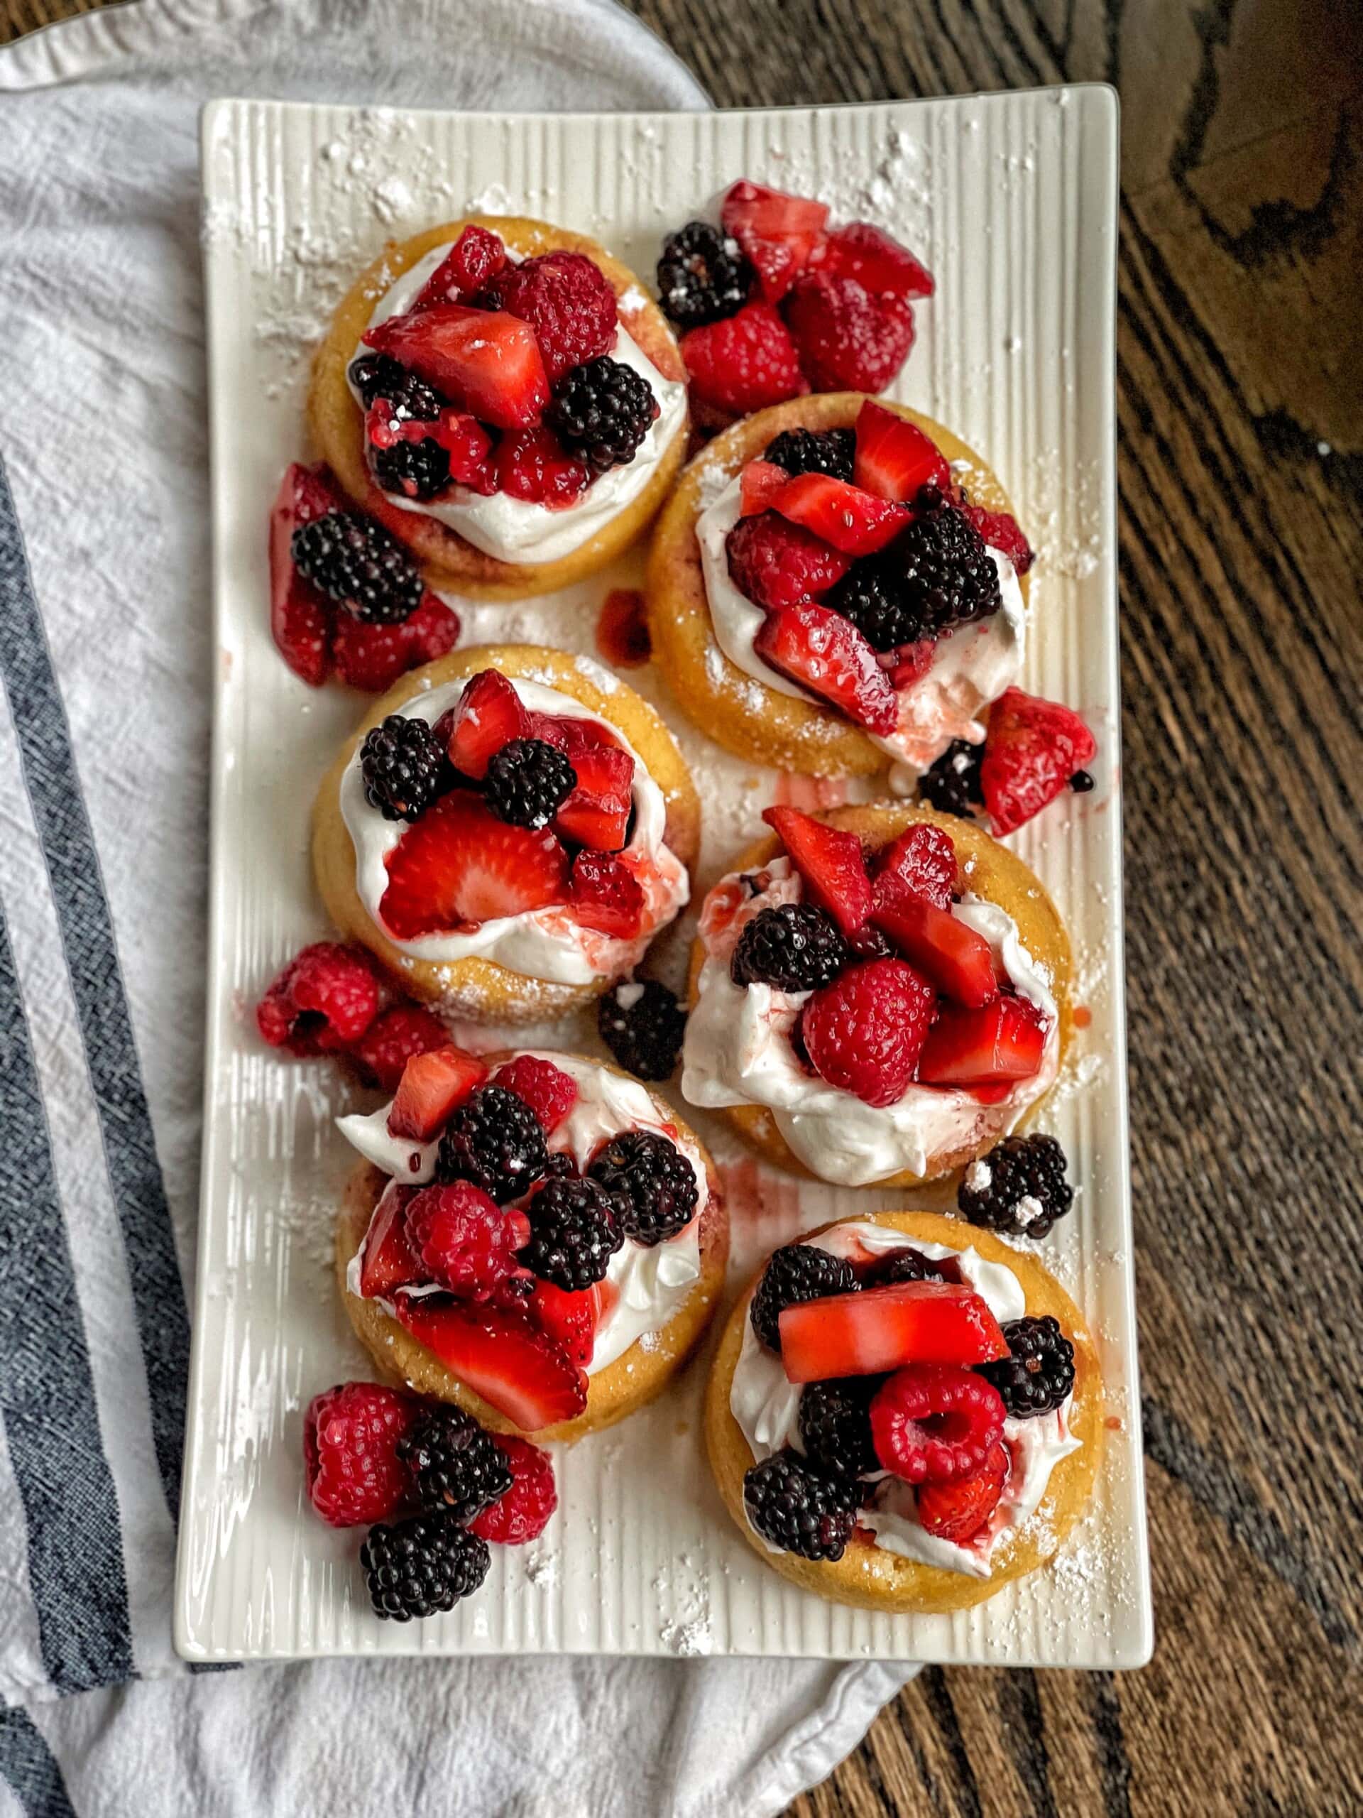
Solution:
<svg viewBox="0 0 1363 1818"><path fill-rule="evenodd" d="M204 1216L176 1636L193 1660L385 1653L716 1653L1000 1665L1134 1665L1150 1649L1127 1185L1114 538L1116 102L1101 87L731 115L478 118L214 102L204 115L214 604L213 929ZM1074 1158L1076 1211L1045 1256L1085 1307L1110 1394L1092 1514L1049 1573L956 1616L876 1616L803 1596L734 1531L701 1463L701 1358L654 1407L558 1453L562 1507L529 1549L494 1547L482 1593L418 1625L378 1622L358 1536L302 1487L309 1396L369 1374L331 1282L353 1093L253 1029L274 969L323 933L307 865L313 789L363 702L314 693L267 624L265 516L305 453L311 347L385 238L473 207L603 240L647 276L660 236L736 176L872 218L938 295L894 395L996 467L1041 549L1025 684L1099 738L1098 791L1016 845L1072 929L1090 1024L1045 1125ZM609 580L638 580L638 556ZM607 580L465 613L465 642L592 649ZM705 802L705 887L781 787L660 702ZM676 944L674 944L676 945ZM676 954L674 954L676 958ZM563 1045L582 1044L562 1031ZM798 1185L709 1131L734 1207L734 1280L796 1229L901 1196ZM932 1196L920 1196L923 1198Z"/></svg>

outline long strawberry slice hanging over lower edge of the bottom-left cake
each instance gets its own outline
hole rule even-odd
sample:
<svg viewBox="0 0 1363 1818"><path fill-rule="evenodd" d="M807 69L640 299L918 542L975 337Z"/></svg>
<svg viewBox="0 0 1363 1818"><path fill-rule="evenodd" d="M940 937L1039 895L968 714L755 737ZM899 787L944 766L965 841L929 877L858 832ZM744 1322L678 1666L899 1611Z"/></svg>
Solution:
<svg viewBox="0 0 1363 1818"><path fill-rule="evenodd" d="M572 1420L587 1405L585 1374L520 1314L434 1294L398 1294L396 1311L418 1344L523 1433Z"/></svg>

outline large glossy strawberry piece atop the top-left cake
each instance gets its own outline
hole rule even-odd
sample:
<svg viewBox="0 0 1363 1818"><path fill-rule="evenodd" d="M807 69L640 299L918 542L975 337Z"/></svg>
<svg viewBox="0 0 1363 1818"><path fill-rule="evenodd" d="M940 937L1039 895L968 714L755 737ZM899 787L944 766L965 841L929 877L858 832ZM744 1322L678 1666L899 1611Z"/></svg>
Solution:
<svg viewBox="0 0 1363 1818"><path fill-rule="evenodd" d="M498 429L523 429L549 404L534 329L503 309L431 304L374 324L363 340Z"/></svg>

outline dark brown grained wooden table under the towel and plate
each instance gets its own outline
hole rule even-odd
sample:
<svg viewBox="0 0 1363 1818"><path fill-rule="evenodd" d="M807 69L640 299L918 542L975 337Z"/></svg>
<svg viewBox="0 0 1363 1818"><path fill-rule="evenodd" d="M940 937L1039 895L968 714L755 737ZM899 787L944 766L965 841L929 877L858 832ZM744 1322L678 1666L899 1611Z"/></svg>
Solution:
<svg viewBox="0 0 1363 1818"><path fill-rule="evenodd" d="M631 0L720 105L1114 82L1156 1656L929 1669L791 1809L1363 1811L1363 7ZM0 0L0 38L80 0Z"/></svg>

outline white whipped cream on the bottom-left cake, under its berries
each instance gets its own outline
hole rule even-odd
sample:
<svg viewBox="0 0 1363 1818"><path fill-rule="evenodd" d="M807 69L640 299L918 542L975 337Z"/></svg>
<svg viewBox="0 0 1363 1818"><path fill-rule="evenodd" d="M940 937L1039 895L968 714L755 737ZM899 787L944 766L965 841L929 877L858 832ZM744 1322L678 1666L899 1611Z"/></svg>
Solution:
<svg viewBox="0 0 1363 1818"><path fill-rule="evenodd" d="M685 1305L692 1287L700 1280L700 1224L711 1198L705 1176L705 1162L700 1149L682 1136L676 1127L663 1127L658 1122L658 1109L638 1080L625 1080L609 1067L582 1060L576 1054L560 1054L549 1049L518 1049L522 1054L534 1054L536 1060L549 1060L562 1073L567 1073L578 1087L578 1102L549 1138L549 1149L565 1151L572 1156L582 1173L602 1144L622 1131L649 1129L658 1131L674 1144L687 1158L696 1176L696 1211L676 1236L663 1244L636 1244L625 1238L611 1258L605 1273L612 1293L609 1307L596 1327L596 1344L587 1374L594 1376L622 1358L631 1345L645 1342L651 1333L660 1333ZM438 1142L416 1144L402 1136L389 1134L391 1104L369 1116L353 1114L336 1118L336 1127L360 1154L374 1167L391 1174L402 1185L425 1185L434 1178ZM345 1285L353 1294L360 1294L360 1265L363 1262L363 1242L351 1256L345 1271ZM418 1287L416 1294L438 1294L440 1287ZM393 1314L393 1304L380 1298L378 1305Z"/></svg>

